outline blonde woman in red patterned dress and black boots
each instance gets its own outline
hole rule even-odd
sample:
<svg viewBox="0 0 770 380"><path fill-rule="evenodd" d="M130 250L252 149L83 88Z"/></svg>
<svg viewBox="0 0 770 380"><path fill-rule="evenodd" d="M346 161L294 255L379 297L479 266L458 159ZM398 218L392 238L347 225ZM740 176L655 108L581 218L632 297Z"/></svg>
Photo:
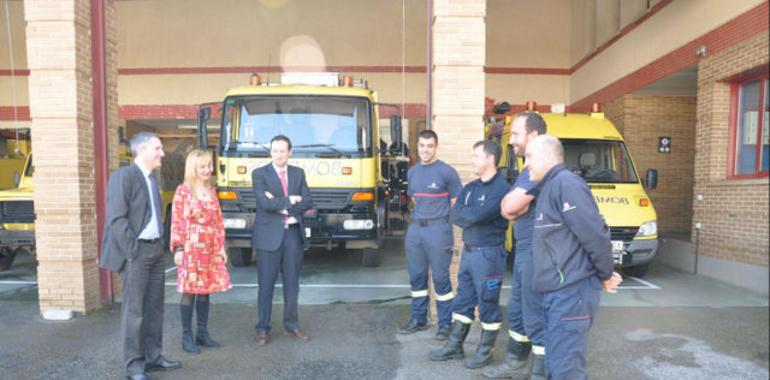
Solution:
<svg viewBox="0 0 770 380"><path fill-rule="evenodd" d="M177 291L182 293L182 348L195 354L200 353L197 345L219 347L208 333L209 294L231 288L225 265L225 229L211 185L212 172L210 153L193 150L187 155L184 183L176 189L171 214L171 252L177 265ZM193 307L198 317L195 339Z"/></svg>

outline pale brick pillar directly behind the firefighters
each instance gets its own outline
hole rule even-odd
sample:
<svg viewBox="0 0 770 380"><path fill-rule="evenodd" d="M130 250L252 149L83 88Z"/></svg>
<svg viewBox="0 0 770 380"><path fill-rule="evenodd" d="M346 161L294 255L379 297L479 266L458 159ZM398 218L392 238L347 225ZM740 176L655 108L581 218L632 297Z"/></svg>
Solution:
<svg viewBox="0 0 770 380"><path fill-rule="evenodd" d="M467 183L473 179L473 143L484 137L486 0L435 0L433 16L432 128L439 158ZM455 247L462 247L457 228ZM455 287L459 263L458 252L451 266Z"/></svg>

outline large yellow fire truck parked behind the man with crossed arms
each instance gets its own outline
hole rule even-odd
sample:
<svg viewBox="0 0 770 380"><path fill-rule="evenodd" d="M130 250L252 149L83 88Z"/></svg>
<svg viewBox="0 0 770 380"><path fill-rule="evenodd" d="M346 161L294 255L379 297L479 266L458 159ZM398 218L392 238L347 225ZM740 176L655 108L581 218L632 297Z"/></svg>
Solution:
<svg viewBox="0 0 770 380"><path fill-rule="evenodd" d="M209 145L208 124L217 113L215 172L233 265L251 262L256 207L251 172L270 162L270 140L278 134L291 139L289 163L305 170L313 196L314 208L304 216L311 244L360 250L362 265L379 265L389 191L382 169L388 158L381 149L377 93L366 82L334 73L285 73L280 84L256 80L232 88L224 102L201 106L201 147ZM396 144L401 144L400 120L394 116L390 123Z"/></svg>

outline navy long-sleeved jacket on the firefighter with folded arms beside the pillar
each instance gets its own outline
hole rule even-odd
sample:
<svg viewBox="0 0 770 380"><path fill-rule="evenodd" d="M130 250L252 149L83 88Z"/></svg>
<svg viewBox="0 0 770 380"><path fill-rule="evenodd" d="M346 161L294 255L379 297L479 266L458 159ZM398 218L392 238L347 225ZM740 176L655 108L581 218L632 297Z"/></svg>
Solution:
<svg viewBox="0 0 770 380"><path fill-rule="evenodd" d="M450 216L463 229L465 244L494 247L505 243L508 221L500 216L500 202L506 193L508 183L497 173L487 182L477 179L463 187Z"/></svg>

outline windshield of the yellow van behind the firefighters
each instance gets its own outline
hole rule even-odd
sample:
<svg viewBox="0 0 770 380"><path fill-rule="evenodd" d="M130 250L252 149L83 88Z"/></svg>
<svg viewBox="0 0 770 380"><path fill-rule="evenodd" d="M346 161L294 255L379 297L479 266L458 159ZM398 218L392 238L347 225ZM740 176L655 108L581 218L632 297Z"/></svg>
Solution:
<svg viewBox="0 0 770 380"><path fill-rule="evenodd" d="M562 139L561 143L564 164L586 182L639 182L622 141Z"/></svg>

